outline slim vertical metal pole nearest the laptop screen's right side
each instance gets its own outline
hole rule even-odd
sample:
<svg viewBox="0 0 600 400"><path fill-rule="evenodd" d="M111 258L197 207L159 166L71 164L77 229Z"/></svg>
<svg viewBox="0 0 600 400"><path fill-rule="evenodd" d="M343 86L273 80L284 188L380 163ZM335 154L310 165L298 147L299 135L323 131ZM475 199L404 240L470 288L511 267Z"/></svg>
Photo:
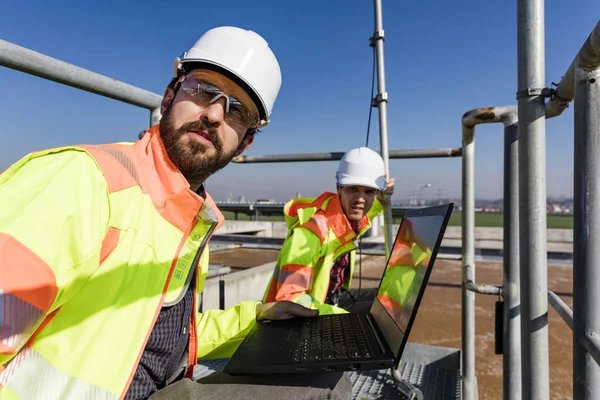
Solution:
<svg viewBox="0 0 600 400"><path fill-rule="evenodd" d="M462 157L462 375L463 399L478 398L475 378L475 293L465 286L467 265L475 266L475 128L463 125ZM472 268L475 279L475 268Z"/></svg>

